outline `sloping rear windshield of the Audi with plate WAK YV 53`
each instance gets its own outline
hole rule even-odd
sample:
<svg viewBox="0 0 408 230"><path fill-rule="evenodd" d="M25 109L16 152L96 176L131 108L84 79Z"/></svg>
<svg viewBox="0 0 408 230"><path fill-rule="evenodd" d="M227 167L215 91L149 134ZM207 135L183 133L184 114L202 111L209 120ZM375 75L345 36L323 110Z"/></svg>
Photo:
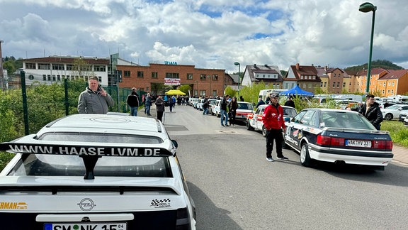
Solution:
<svg viewBox="0 0 408 230"><path fill-rule="evenodd" d="M340 111L322 111L320 126L331 128L356 128L375 130L373 124L358 113Z"/></svg>

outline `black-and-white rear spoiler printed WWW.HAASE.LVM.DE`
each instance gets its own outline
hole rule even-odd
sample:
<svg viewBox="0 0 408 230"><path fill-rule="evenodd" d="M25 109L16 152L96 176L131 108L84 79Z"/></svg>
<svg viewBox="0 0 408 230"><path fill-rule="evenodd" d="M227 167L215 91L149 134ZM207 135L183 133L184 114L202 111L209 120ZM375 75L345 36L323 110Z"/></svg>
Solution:
<svg viewBox="0 0 408 230"><path fill-rule="evenodd" d="M176 155L176 146L171 150L163 144L150 145L152 147L137 146L135 144L80 142L73 145L69 142L40 141L35 135L23 136L11 142L0 143L0 150L9 153L45 154L45 155L77 155L84 160L85 180L94 180L94 168L99 158L113 157L169 157Z"/></svg>

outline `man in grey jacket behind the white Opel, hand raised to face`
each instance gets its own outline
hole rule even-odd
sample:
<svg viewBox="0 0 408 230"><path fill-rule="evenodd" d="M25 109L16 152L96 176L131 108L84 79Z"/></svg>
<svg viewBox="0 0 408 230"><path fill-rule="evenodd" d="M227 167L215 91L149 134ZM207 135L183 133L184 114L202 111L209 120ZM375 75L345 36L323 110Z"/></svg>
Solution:
<svg viewBox="0 0 408 230"><path fill-rule="evenodd" d="M107 114L108 106L115 104L111 95L99 86L98 77L89 77L89 86L79 94L79 114Z"/></svg>

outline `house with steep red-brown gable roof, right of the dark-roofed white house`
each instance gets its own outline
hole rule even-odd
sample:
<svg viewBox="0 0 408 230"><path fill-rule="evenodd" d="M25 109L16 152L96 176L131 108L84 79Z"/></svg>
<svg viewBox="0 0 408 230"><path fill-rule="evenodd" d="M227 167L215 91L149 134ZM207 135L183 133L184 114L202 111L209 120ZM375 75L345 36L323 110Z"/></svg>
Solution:
<svg viewBox="0 0 408 230"><path fill-rule="evenodd" d="M283 78L283 88L291 89L295 85L307 92L314 92L320 87L320 77L314 65L290 65L286 76Z"/></svg>

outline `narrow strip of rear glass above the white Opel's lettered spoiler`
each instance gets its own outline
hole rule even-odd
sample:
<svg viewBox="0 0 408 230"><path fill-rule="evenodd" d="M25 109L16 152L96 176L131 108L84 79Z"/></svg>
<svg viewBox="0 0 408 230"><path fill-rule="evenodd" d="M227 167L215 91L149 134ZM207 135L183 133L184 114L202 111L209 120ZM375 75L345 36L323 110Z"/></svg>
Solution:
<svg viewBox="0 0 408 230"><path fill-rule="evenodd" d="M123 135L114 133L44 133L38 137L43 141L86 141L102 143L163 143L157 136Z"/></svg>

